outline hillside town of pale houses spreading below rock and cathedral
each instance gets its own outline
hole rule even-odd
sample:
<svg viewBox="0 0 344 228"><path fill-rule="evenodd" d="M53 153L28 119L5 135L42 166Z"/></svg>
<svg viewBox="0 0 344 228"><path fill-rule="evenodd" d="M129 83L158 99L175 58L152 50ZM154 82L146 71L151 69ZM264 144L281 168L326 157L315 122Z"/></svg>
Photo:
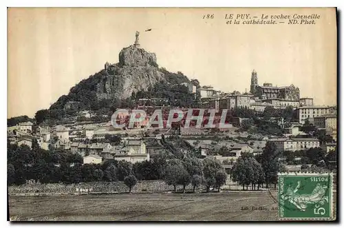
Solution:
<svg viewBox="0 0 344 228"><path fill-rule="evenodd" d="M106 160L127 160L131 163L149 160L150 154L158 154L166 149L160 143L161 136L178 136L190 147L202 150L202 156L219 160L236 160L241 152L261 153L266 142L275 143L281 150L296 151L299 149L321 147L326 152L336 149L336 107L316 105L312 98L300 98L300 91L294 85L272 86L270 83L258 85L257 72L252 71L250 92L221 92L211 86L196 87L192 83L183 83L191 94L200 94L200 108L215 110L252 110L252 113L265 114L267 110L292 110L292 118L270 117L268 121L276 123L281 129L279 136L275 134L250 134L243 130L246 121L252 118L231 116L233 127L222 131L212 132L211 129L196 129L195 127L179 127L173 129L147 129L149 116L144 121L136 123L132 128L116 129L111 121L92 123L88 121L94 113L90 110L78 112L75 121L65 125L37 125L34 121L22 122L8 127L10 144L27 145L32 147L36 141L45 150L63 149L73 154L80 154L83 163L103 163ZM149 103L149 105L147 105ZM173 107L166 99L138 99L133 109L169 110ZM194 107L195 108L195 107ZM184 112L188 107L182 107ZM78 117L85 121L77 121ZM102 116L103 117L103 116ZM323 130L330 141L320 141L312 136L312 132L303 132L305 123L314 126L315 130ZM178 133L176 133L178 132ZM116 145L107 141L107 137L118 136ZM225 137L226 140L215 140ZM197 139L199 138L199 139ZM250 138L252 140L250 140ZM112 145L111 145L112 144ZM227 147L228 155L219 155L219 149ZM211 152L210 152L211 151Z"/></svg>

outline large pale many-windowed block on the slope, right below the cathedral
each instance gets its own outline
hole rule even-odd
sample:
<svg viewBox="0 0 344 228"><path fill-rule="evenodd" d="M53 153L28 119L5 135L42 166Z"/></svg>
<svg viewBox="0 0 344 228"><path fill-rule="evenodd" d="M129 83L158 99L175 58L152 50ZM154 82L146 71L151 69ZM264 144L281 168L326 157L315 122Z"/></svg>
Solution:
<svg viewBox="0 0 344 228"><path fill-rule="evenodd" d="M295 110L299 123L305 123L305 120L316 118L325 114L330 114L330 107L327 106L302 106Z"/></svg>

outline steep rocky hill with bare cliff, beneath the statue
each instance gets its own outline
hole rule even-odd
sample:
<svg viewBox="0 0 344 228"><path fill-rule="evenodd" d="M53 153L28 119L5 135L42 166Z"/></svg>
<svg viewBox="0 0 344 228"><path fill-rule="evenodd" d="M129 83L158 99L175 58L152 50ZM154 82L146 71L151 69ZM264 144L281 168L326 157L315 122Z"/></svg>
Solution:
<svg viewBox="0 0 344 228"><path fill-rule="evenodd" d="M189 79L180 72L175 74L159 68L154 53L140 45L130 45L120 51L119 63L105 63L103 70L72 87L50 110L98 110L147 91L160 82L175 85Z"/></svg>

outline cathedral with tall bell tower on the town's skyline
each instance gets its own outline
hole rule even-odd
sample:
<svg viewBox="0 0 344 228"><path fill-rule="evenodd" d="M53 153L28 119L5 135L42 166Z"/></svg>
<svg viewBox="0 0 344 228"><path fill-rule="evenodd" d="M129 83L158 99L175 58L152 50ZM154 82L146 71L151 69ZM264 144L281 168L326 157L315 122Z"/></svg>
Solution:
<svg viewBox="0 0 344 228"><path fill-rule="evenodd" d="M280 99L283 101L299 101L300 90L294 85L289 86L272 86L271 83L258 85L258 76L255 70L251 74L250 93L259 99Z"/></svg>

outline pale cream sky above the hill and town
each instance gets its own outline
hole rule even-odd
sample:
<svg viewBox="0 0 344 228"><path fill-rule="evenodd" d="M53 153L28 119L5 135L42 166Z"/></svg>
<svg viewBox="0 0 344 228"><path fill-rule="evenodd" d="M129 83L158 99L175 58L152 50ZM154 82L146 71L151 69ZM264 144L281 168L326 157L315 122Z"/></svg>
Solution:
<svg viewBox="0 0 344 228"><path fill-rule="evenodd" d="M213 19L203 19L213 14ZM226 14L319 14L312 25L228 25ZM144 32L151 28L150 32ZM295 85L336 105L335 8L9 8L8 118L49 108L79 81L118 63L135 41L158 65L223 92Z"/></svg>

